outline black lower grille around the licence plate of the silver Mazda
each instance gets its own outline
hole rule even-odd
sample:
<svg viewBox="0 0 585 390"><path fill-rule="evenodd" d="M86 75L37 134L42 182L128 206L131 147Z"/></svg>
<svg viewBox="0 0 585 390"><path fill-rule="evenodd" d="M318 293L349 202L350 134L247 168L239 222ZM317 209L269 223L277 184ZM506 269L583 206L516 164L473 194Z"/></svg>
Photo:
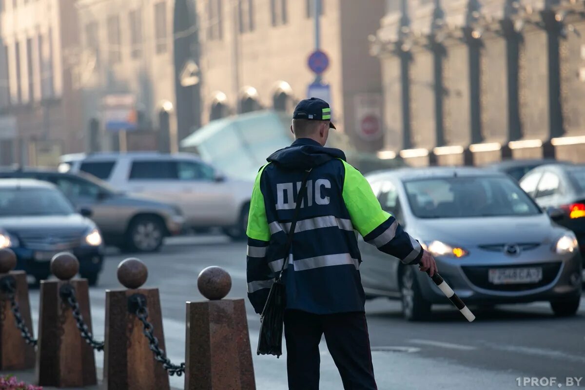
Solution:
<svg viewBox="0 0 585 390"><path fill-rule="evenodd" d="M477 287L495 290L495 291L524 291L543 287L555 280L556 275L559 274L560 265L562 263L557 261L555 263L538 263L538 264L514 264L514 265L488 265L480 267L461 267L465 276L472 284ZM521 284L492 284L488 279L489 270L498 268L522 268L522 267L541 267L542 279L536 283L521 283Z"/></svg>

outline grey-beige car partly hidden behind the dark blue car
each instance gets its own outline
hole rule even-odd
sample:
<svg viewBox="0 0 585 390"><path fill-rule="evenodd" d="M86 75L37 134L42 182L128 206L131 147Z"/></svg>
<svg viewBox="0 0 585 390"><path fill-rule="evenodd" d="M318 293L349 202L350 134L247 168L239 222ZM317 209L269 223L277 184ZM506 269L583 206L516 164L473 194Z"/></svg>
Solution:
<svg viewBox="0 0 585 390"><path fill-rule="evenodd" d="M164 237L183 232L185 218L176 205L115 191L90 174L40 168L0 171L0 178L32 178L53 183L75 208L90 208L107 245L125 251L154 252Z"/></svg>

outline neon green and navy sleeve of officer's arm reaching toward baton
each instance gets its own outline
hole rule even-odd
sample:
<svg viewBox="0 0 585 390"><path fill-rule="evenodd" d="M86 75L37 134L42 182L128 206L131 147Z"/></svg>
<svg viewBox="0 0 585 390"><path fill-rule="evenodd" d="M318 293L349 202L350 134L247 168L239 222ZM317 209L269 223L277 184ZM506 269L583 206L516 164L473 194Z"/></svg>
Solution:
<svg viewBox="0 0 585 390"><path fill-rule="evenodd" d="M402 230L394 216L385 212L363 175L343 161L343 201L352 224L364 241L378 250L399 258L404 264L417 264L424 253L421 244Z"/></svg>

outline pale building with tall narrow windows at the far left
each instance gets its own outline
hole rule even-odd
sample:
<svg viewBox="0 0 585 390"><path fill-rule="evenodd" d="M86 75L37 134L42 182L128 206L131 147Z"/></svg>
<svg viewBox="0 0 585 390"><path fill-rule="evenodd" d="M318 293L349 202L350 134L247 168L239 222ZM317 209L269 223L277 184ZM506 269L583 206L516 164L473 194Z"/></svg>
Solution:
<svg viewBox="0 0 585 390"><path fill-rule="evenodd" d="M0 165L52 165L83 143L74 0L0 2Z"/></svg>

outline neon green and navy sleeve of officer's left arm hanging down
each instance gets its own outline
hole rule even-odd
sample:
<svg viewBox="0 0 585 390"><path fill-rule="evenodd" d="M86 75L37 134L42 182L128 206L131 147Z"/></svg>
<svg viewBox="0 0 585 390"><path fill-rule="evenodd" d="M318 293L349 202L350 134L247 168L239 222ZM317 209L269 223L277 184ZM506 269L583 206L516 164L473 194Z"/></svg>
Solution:
<svg viewBox="0 0 585 390"><path fill-rule="evenodd" d="M264 167L260 169L256 181L254 181L246 231L248 237L246 253L248 298L256 313L259 314L264 308L270 287L274 282L274 272L270 270L266 258L266 250L270 242L270 229L266 219L264 195L260 189L260 179Z"/></svg>

